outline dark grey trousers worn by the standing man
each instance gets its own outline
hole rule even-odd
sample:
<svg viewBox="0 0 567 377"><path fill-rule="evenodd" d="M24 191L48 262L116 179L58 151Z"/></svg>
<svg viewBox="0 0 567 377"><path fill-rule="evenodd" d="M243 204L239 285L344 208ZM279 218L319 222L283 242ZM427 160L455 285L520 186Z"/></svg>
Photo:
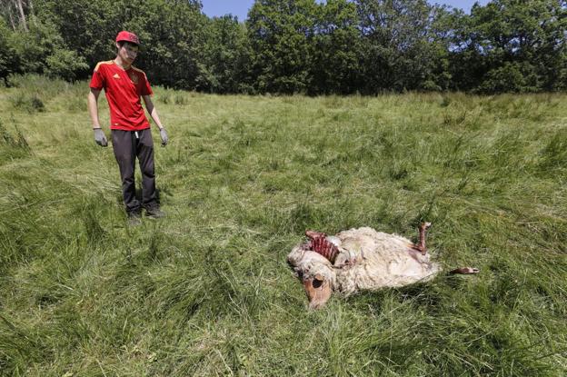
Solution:
<svg viewBox="0 0 567 377"><path fill-rule="evenodd" d="M142 207L157 205L154 174L154 140L149 128L142 131L112 130L114 156L120 168L126 212L139 212ZM138 158L142 171L142 203L135 196L134 170Z"/></svg>

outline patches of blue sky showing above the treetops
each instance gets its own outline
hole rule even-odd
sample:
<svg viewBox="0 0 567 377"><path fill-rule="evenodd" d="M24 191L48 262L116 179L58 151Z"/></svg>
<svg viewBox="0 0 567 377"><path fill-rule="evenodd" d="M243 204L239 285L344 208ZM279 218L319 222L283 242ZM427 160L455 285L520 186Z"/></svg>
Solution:
<svg viewBox="0 0 567 377"><path fill-rule="evenodd" d="M202 0L203 12L209 17L214 15L232 14L238 17L238 21L244 21L248 14L248 9L254 4L254 0ZM462 8L469 13L471 6L478 1L485 5L489 0L430 0L430 3L452 5L455 8Z"/></svg>

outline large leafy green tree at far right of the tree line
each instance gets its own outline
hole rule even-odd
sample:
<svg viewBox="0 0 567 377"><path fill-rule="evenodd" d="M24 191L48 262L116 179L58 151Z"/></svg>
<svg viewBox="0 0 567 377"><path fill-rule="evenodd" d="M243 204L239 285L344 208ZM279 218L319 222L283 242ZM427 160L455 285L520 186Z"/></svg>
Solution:
<svg viewBox="0 0 567 377"><path fill-rule="evenodd" d="M567 2L494 0L472 7L456 57L457 77L482 93L555 90L565 66ZM513 82L511 82L513 81ZM561 84L560 84L561 85Z"/></svg>

